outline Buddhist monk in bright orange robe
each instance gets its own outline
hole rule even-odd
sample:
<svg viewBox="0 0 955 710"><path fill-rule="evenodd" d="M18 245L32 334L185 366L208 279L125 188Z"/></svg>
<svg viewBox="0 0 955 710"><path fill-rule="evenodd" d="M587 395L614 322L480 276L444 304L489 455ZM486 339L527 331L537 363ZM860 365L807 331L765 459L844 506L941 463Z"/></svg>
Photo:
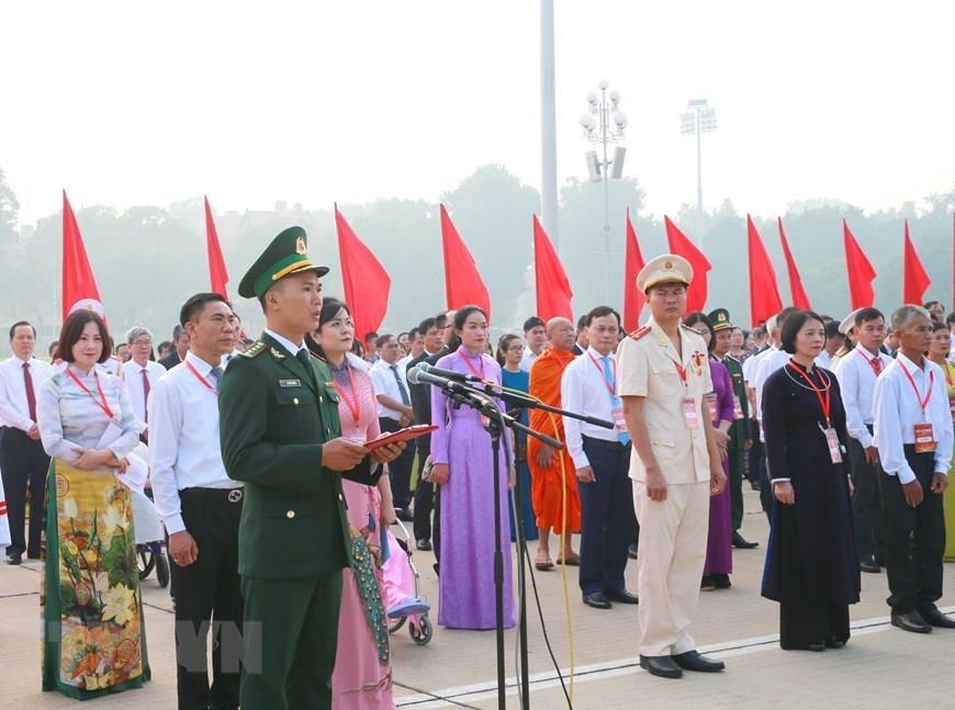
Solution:
<svg viewBox="0 0 955 710"><path fill-rule="evenodd" d="M574 325L566 318L551 318L547 324L547 339L548 349L530 368L529 392L544 404L560 407L561 375L574 359ZM531 409L530 428L566 443L560 415ZM571 546L571 534L581 531L581 499L573 459L566 449L558 451L528 437L527 463L530 467L530 498L540 531L535 566L538 570L553 567L550 557L551 529L558 536L566 532L558 564L580 564L580 555Z"/></svg>

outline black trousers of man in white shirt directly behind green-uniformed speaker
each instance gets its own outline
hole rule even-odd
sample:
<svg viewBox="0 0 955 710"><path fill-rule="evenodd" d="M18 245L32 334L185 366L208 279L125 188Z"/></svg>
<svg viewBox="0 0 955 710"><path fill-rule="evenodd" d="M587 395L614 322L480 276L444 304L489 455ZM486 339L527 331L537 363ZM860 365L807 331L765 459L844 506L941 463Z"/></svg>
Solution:
<svg viewBox="0 0 955 710"><path fill-rule="evenodd" d="M238 708L243 598L238 574L241 489L184 488L182 520L195 540L191 565L172 563L179 710ZM233 498L232 500L229 498ZM236 499L238 498L238 499ZM212 686L206 644L213 632Z"/></svg>

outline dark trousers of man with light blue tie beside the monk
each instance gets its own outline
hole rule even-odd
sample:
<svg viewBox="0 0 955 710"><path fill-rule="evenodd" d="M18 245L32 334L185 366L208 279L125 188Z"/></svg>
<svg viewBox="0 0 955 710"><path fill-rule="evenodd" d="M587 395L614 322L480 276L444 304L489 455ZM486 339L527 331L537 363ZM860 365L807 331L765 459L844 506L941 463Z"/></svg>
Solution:
<svg viewBox="0 0 955 710"><path fill-rule="evenodd" d="M577 485L582 516L581 591L623 591L627 546L636 533L631 447L589 437L583 439L584 453L596 480Z"/></svg>

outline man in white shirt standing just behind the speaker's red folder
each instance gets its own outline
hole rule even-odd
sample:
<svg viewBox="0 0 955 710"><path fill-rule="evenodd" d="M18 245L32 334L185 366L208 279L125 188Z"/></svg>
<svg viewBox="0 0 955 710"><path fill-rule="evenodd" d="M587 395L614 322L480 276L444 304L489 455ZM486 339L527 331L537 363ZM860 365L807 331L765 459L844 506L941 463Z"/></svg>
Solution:
<svg viewBox="0 0 955 710"><path fill-rule="evenodd" d="M405 371L397 364L397 338L387 334L379 336L375 347L379 360L371 367L370 373L378 399L378 421L382 432L397 431L411 425L415 418ZM408 447L389 464L395 515L406 522L414 520L409 510L414 458L414 450Z"/></svg>

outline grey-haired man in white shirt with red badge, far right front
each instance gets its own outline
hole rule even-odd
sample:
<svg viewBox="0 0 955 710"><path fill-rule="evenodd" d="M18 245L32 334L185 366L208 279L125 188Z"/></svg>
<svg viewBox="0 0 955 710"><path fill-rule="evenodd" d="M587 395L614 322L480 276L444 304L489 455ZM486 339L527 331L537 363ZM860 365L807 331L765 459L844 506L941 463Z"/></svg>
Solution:
<svg viewBox="0 0 955 710"><path fill-rule="evenodd" d="M924 357L932 336L928 312L902 306L892 314L896 360L875 388L875 442L883 472L886 573L892 624L926 633L955 628L935 606L942 597L945 521L942 494L952 463L952 413L942 369Z"/></svg>

